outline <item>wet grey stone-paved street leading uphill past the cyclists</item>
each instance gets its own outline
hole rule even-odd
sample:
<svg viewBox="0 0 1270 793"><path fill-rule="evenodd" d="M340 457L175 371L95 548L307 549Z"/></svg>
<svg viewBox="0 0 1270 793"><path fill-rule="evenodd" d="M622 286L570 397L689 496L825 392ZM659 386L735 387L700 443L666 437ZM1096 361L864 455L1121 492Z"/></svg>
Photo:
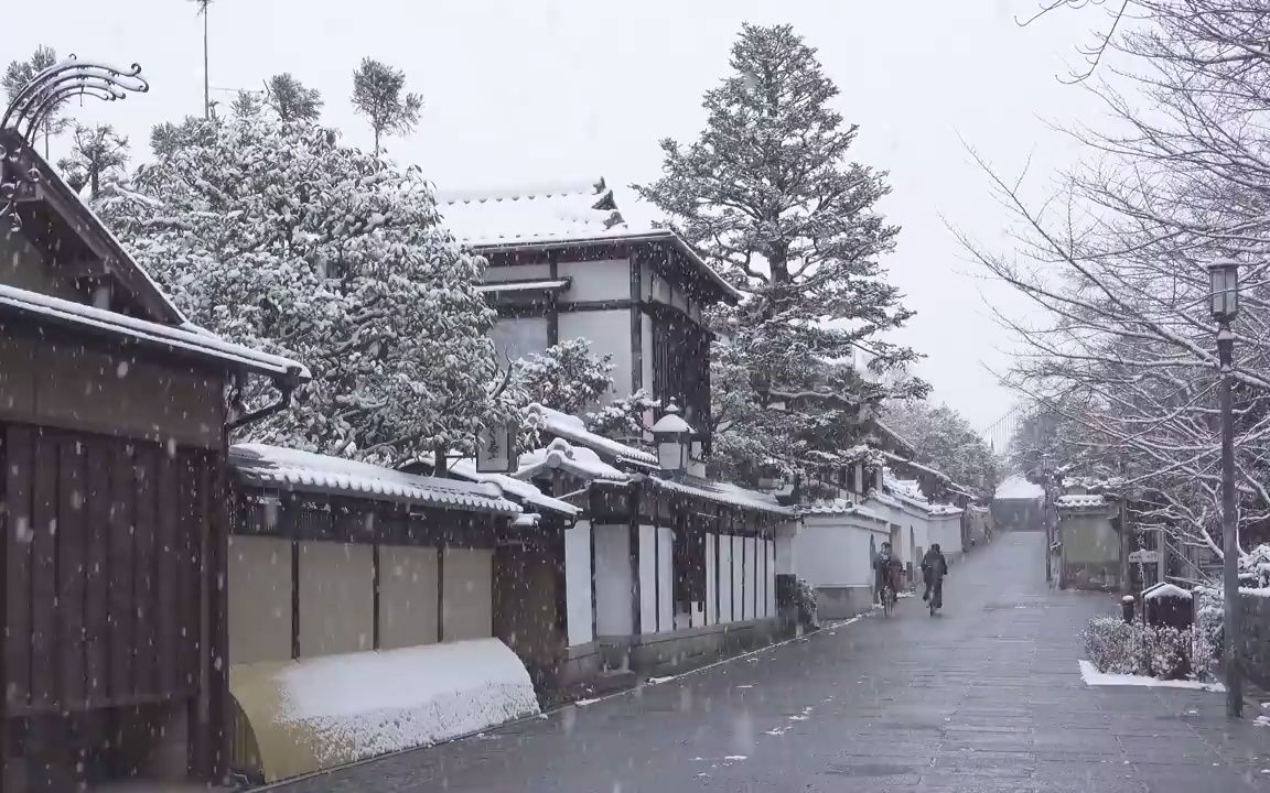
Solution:
<svg viewBox="0 0 1270 793"><path fill-rule="evenodd" d="M961 561L933 619L902 600L890 619L279 793L1270 790L1270 728L1227 723L1220 694L1085 685L1080 629L1118 604L1049 591L1043 544L1005 534Z"/></svg>

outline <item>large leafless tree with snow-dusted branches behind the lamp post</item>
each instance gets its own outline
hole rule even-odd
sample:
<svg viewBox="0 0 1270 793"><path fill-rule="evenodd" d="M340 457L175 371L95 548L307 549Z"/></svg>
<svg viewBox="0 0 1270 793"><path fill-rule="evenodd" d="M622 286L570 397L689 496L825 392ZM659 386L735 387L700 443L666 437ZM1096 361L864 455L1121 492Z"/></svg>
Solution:
<svg viewBox="0 0 1270 793"><path fill-rule="evenodd" d="M1041 13L1090 5L1053 0ZM1093 156L1039 204L980 160L1019 222L1019 250L963 242L1048 317L1002 317L1027 350L1008 382L1062 416L1077 435L1068 439L1074 457L1123 468L1144 519L1220 556L1206 273L1218 258L1243 264L1233 373L1240 525L1270 515L1270 51L1261 44L1270 16L1246 0L1092 8L1109 24L1073 76L1111 109L1114 132L1074 132ZM1135 24L1125 25L1130 15Z"/></svg>

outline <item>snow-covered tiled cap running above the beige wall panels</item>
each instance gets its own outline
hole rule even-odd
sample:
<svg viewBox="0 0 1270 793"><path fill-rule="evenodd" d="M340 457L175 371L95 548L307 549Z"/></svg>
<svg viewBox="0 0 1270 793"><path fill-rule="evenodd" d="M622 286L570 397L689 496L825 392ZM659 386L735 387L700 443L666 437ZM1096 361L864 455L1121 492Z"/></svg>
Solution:
<svg viewBox="0 0 1270 793"><path fill-rule="evenodd" d="M251 486L366 496L399 504L514 515L521 508L503 497L490 482L461 482L404 473L342 457L329 457L263 443L230 447L230 466Z"/></svg>

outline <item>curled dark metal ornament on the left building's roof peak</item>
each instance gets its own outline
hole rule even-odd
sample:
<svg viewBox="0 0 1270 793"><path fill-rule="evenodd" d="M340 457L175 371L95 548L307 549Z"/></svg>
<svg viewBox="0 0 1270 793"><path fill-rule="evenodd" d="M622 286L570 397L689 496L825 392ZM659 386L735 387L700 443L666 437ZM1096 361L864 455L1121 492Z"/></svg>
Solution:
<svg viewBox="0 0 1270 793"><path fill-rule="evenodd" d="M14 230L22 227L18 199L39 181L34 167L23 167L23 152L57 108L74 96L116 102L127 98L128 91L149 90L137 63L119 69L79 61L74 55L32 77L0 115L0 220L9 218Z"/></svg>

